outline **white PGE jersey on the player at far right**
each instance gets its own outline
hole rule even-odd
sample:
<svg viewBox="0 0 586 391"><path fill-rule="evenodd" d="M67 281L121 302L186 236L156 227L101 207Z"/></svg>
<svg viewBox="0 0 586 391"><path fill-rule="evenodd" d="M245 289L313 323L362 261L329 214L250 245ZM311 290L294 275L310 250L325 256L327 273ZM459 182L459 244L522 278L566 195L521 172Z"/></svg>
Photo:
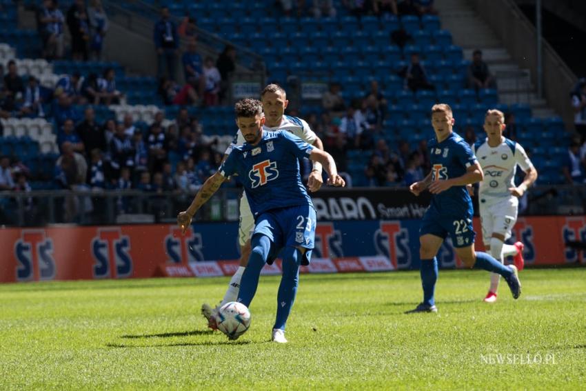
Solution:
<svg viewBox="0 0 586 391"><path fill-rule="evenodd" d="M533 167L523 147L505 137L502 138L501 144L494 148L489 146L488 139L485 139L475 143L472 150L484 172L484 179L478 192L482 203L489 204L514 197L509 188L515 186L517 166L523 171Z"/></svg>

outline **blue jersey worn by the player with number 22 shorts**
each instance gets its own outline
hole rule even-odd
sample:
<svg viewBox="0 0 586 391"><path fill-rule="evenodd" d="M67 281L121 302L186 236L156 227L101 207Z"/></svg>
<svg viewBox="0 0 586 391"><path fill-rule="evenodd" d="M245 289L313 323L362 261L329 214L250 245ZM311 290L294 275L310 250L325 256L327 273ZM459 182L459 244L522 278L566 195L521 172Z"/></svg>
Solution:
<svg viewBox="0 0 586 391"><path fill-rule="evenodd" d="M432 139L428 146L433 181L461 177L476 164L476 157L468 143L454 132L441 143ZM472 210L472 199L466 186L452 186L445 192L434 194L431 205L441 214L458 215Z"/></svg>

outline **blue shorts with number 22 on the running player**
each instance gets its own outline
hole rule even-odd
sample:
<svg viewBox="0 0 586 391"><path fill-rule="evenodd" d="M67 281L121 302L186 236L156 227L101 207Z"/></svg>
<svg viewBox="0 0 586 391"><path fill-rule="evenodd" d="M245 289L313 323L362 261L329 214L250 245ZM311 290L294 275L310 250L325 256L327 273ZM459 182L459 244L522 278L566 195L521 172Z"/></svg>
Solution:
<svg viewBox="0 0 586 391"><path fill-rule="evenodd" d="M434 206L430 206L425 211L421 219L421 228L419 228L419 236L425 234L432 234L442 239L449 234L454 247L467 247L474 244L476 232L472 227L472 212L449 215L439 213Z"/></svg>

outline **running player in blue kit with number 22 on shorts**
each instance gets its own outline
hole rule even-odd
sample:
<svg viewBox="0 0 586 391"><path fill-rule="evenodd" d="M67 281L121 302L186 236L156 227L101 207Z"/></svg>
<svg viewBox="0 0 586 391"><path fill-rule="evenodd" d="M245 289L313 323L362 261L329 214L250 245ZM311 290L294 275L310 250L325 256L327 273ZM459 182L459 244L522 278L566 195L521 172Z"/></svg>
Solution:
<svg viewBox="0 0 586 391"><path fill-rule="evenodd" d="M436 134L429 143L432 172L409 188L416 196L430 190L432 201L419 229L423 302L407 313L437 312L434 297L438 279L436 254L448 234L456 254L468 268L500 274L509 284L513 298L518 299L521 281L517 268L505 266L485 252L474 251L472 199L466 186L482 181L483 171L466 141L452 130L452 108L447 104L434 105L432 126Z"/></svg>

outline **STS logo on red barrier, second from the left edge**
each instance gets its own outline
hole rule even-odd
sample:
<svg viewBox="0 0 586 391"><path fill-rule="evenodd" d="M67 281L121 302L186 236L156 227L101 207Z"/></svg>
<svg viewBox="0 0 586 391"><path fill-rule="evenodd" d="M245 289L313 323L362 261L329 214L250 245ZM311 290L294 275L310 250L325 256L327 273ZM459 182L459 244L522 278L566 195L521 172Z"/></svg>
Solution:
<svg viewBox="0 0 586 391"><path fill-rule="evenodd" d="M98 236L92 240L94 257L94 278L123 278L132 274L130 258L130 239L123 236L120 228L98 230Z"/></svg>

